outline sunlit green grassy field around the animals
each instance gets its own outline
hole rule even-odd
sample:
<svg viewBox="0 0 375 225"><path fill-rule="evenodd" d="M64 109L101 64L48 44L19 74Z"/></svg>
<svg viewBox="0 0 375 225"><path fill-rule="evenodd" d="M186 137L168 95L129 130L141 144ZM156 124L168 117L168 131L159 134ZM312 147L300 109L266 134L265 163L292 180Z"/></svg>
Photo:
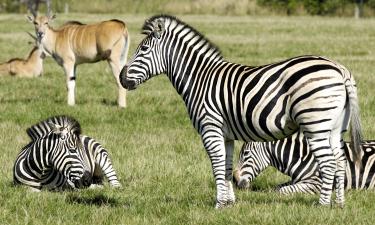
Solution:
<svg viewBox="0 0 375 225"><path fill-rule="evenodd" d="M149 15L70 14L57 18L127 22L132 44ZM229 61L260 65L318 54L349 68L356 77L365 137L375 137L375 19L320 17L180 17L205 34ZM0 15L0 61L28 55L22 15ZM210 162L180 97L165 76L129 92L129 107L116 106L115 81L105 62L81 65L77 105L66 104L65 76L51 59L35 79L0 77L0 224L370 224L374 191L346 192L344 209L313 206L318 195L279 196L272 187L287 178L267 170L256 191L235 190L235 206L215 210ZM84 134L111 153L123 188L31 193L12 185L12 167L28 142L26 128L52 115L80 121ZM236 155L239 152L237 143ZM237 160L237 157L236 159Z"/></svg>

